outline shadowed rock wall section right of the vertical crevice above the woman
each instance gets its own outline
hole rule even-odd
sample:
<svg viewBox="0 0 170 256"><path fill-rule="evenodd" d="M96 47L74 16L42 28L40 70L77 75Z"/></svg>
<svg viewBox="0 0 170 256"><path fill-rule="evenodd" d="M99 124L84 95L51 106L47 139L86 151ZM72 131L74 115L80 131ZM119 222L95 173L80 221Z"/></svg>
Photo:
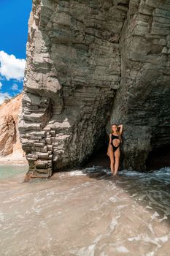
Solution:
<svg viewBox="0 0 170 256"><path fill-rule="evenodd" d="M130 1L120 39L121 81L111 120L124 124L123 166L145 169L170 145L170 1Z"/></svg>

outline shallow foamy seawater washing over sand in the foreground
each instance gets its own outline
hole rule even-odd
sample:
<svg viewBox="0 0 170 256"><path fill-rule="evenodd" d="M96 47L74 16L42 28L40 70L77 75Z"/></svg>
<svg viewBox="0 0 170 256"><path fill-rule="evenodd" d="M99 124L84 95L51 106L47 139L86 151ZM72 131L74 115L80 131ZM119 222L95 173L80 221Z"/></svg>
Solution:
<svg viewBox="0 0 170 256"><path fill-rule="evenodd" d="M1 255L170 256L170 167L113 178L96 166L29 183L27 166L11 170L0 180Z"/></svg>

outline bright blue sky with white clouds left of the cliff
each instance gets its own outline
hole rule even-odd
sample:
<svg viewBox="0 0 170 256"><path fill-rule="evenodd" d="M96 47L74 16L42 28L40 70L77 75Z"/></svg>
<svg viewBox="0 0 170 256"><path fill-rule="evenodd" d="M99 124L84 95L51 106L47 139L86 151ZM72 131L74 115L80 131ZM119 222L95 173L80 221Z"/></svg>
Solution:
<svg viewBox="0 0 170 256"><path fill-rule="evenodd" d="M23 91L31 0L0 0L0 105Z"/></svg>

